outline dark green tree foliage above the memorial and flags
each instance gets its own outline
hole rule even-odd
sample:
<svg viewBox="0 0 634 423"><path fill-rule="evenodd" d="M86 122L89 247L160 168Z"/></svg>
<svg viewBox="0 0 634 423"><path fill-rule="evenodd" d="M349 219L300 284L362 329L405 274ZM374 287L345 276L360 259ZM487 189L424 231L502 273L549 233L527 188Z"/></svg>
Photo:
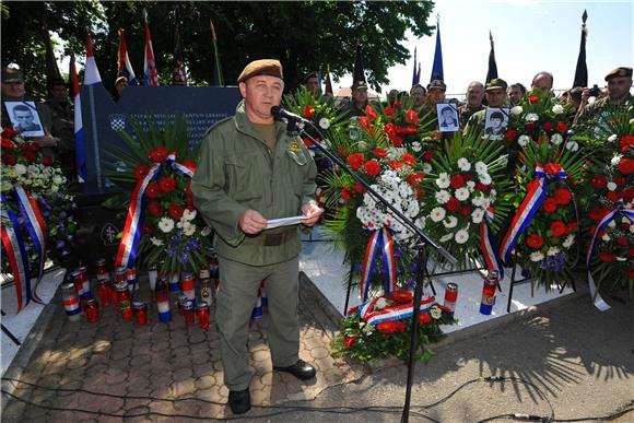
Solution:
<svg viewBox="0 0 634 423"><path fill-rule="evenodd" d="M363 46L368 82L378 89L388 82L388 69L409 58L410 52L400 45L406 32L422 37L433 30L427 25L432 1L12 1L2 2L2 64L21 66L28 87L43 93L43 28L58 33L67 47L82 54L84 28L90 27L97 66L105 85L111 87L117 75L117 31L122 27L134 72L141 78L143 8L148 10L162 84L169 84L172 79L176 24L180 27L190 83L211 83L212 20L227 84L235 83L250 60L273 57L281 60L290 90L301 84L309 71L325 71L327 66L336 80L351 73L357 43Z"/></svg>

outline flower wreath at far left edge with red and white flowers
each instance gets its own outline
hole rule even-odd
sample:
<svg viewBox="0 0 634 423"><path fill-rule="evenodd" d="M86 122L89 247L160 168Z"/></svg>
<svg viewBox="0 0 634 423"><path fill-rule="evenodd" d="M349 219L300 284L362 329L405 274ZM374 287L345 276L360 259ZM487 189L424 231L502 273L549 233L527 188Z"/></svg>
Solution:
<svg viewBox="0 0 634 423"><path fill-rule="evenodd" d="M45 223L47 238L47 257L56 265L63 265L63 259L72 250L72 238L77 230L74 196L68 190L68 180L59 163L52 156L45 155L39 144L22 139L13 129L1 130L2 166L0 190L7 201L2 201L4 211L12 211L17 216L20 233L25 243L27 261L32 271L38 261L38 251L34 247L25 227L25 219L14 196L15 188L22 187L36 200L39 213ZM2 221L2 224L12 224ZM14 228L15 230L15 228ZM46 258L44 258L46 260ZM2 272L12 273L2 246Z"/></svg>

